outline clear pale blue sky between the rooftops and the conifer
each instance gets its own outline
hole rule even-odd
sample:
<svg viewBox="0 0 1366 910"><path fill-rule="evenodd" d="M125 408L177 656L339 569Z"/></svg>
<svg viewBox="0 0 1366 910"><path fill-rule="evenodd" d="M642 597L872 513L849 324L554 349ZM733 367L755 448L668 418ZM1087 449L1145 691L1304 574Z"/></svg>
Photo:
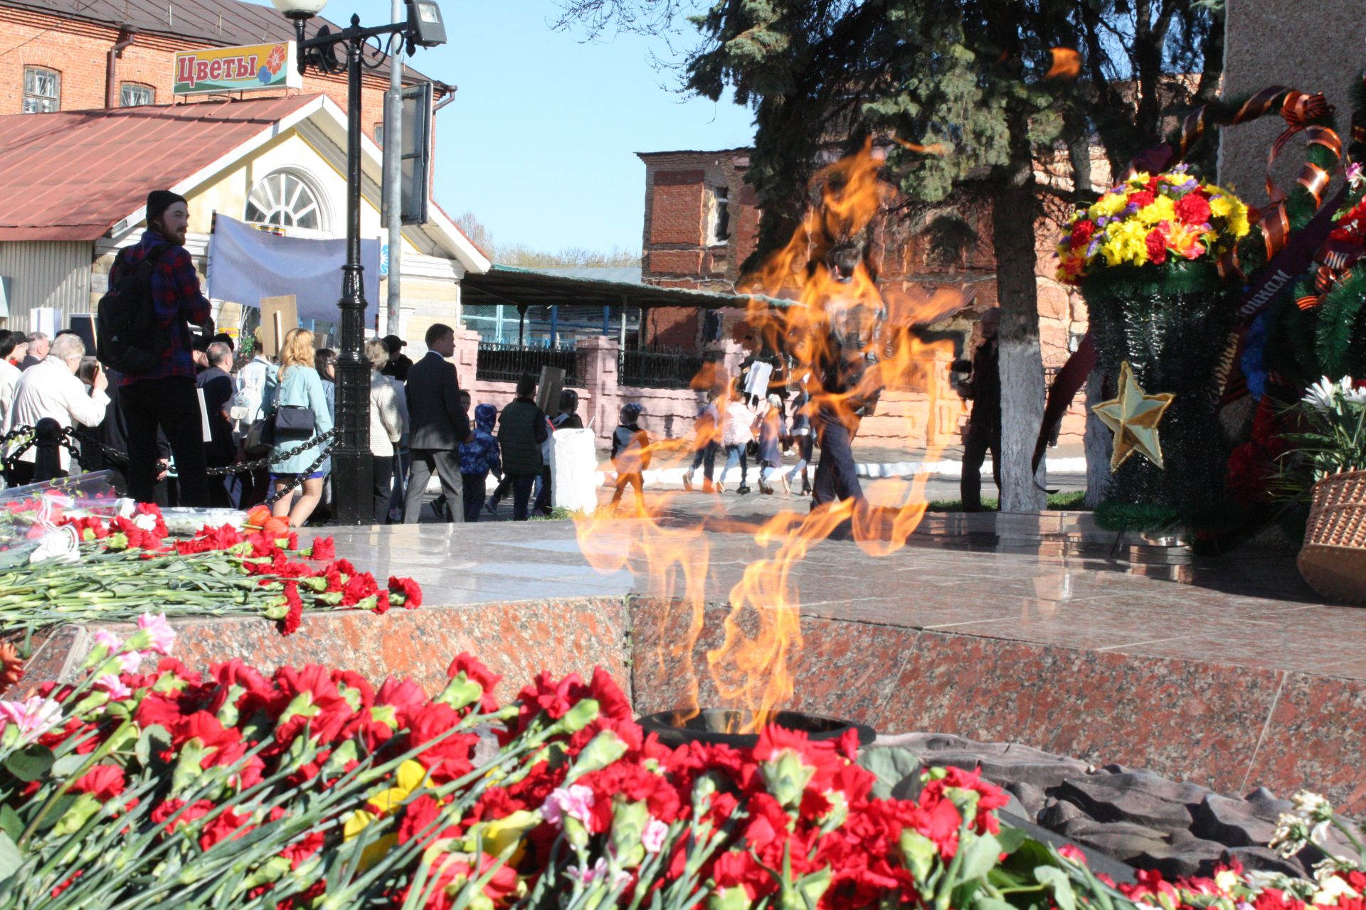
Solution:
<svg viewBox="0 0 1366 910"><path fill-rule="evenodd" d="M583 44L550 30L557 10L555 0L441 3L449 44L410 57L460 87L437 115L434 195L452 216L474 211L499 244L638 251L645 165L635 153L746 146L753 115L672 91L676 75L649 56L669 53L663 41ZM322 15L344 23L352 12L380 25L389 1L332 0Z"/></svg>

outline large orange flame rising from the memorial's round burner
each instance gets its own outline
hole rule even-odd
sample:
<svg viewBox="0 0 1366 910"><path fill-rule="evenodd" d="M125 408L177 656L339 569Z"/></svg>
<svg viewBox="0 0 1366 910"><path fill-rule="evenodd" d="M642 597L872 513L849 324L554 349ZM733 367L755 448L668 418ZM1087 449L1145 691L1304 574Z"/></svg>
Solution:
<svg viewBox="0 0 1366 910"><path fill-rule="evenodd" d="M870 143L865 143L859 153L820 171L811 183L820 202L809 207L787 246L740 282L742 292L754 295L746 312L749 327L762 347L788 357L792 364L788 374L800 379L810 396L810 411L818 415L813 423L837 420L851 434L884 389L934 389L933 372L952 359L951 344L923 342L911 333L911 326L943 318L964 303L958 291L903 291L884 299L869 267L869 228L892 196L891 188L878 180L880 166ZM772 297L795 303L776 307ZM889 303L895 314L891 321ZM852 345L850 340L855 340ZM861 370L851 382L828 382L851 367L854 374ZM716 370L714 364L708 368ZM728 382L725 375L699 374L693 387L719 389ZM724 400L719 409L724 415ZM933 393L930 409L933 415ZM907 435L911 431L907 426ZM649 450L673 461L706 442L706 438L683 445L663 441L652 443ZM937 447L928 457L937 457ZM772 553L746 566L731 588L724 640L705 655L708 673L724 703L717 707L743 707L751 712L753 720L744 731L757 730L794 697L792 669L803 647L795 566L843 525L869 555L899 550L925 514L925 475L910 483L878 480L867 486L867 502L851 498L805 514L783 512L754 533L755 543ZM627 566L632 555L643 558L649 593L672 604L669 610L691 611L684 633L661 641L656 660L665 673L675 673L679 663L687 667L687 704L680 707L695 712L698 681L691 667L703 630L710 542L702 523L690 528L667 527L658 514L660 506L637 506L635 521L581 520L578 539L589 561L604 572Z"/></svg>

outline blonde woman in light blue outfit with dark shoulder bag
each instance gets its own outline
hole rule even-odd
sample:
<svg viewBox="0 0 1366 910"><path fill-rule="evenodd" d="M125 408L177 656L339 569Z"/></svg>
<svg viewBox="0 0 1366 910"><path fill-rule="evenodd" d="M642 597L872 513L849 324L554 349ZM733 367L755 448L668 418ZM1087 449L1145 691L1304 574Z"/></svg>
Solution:
<svg viewBox="0 0 1366 910"><path fill-rule="evenodd" d="M328 408L328 398L322 390L322 379L313 367L313 333L307 329L292 329L284 336L280 345L280 385L275 394L276 415L281 408L307 408L313 412L313 434L320 435L332 430L332 411ZM276 422L276 439L270 449L272 458L281 452L288 452L305 442L309 437L283 435ZM298 454L270 464L270 480L275 491L287 488L299 475L313 468L313 463L322 452L324 443L311 445ZM310 473L302 478L299 488L302 494L290 505L292 493L281 495L270 506L270 513L279 517L290 516L290 524L302 527L322 498L322 479L332 471L332 460L324 458Z"/></svg>

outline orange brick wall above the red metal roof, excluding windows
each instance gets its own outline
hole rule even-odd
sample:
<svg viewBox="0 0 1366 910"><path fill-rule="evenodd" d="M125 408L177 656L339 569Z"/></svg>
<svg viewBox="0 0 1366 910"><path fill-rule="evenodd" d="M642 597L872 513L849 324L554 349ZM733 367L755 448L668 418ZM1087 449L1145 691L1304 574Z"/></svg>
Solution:
<svg viewBox="0 0 1366 910"><path fill-rule="evenodd" d="M64 19L31 10L0 7L0 115L20 113L23 105L25 67L55 70L61 76L60 104L63 111L102 108L108 82L108 52L119 40L119 30L76 19ZM171 94L176 50L204 48L204 40L172 38L139 33L131 46L124 48L117 60L116 87L124 82L150 86L156 104L172 101L221 101L224 96L193 96L175 98ZM384 93L389 87L388 74L366 72L362 76L361 124L374 138L376 124L384 120ZM343 111L347 105L346 74L303 76L305 94L324 93ZM261 98L296 94L298 89L277 89L238 93ZM115 96L117 104L117 93Z"/></svg>

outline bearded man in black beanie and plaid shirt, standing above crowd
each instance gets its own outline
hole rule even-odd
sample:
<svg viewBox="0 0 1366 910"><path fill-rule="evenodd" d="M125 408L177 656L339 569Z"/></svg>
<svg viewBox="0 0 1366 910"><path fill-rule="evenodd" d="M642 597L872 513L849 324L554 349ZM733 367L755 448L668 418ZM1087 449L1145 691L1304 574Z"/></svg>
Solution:
<svg viewBox="0 0 1366 910"><path fill-rule="evenodd" d="M168 190L148 194L148 229L135 246L119 251L109 269L116 287L130 269L152 262L154 338L158 363L119 379L119 397L128 428L128 495L152 502L157 479L157 430L165 434L180 479L180 505L209 505L199 397L194 389L190 325L208 326L209 302L184 248L190 209L184 196Z"/></svg>

